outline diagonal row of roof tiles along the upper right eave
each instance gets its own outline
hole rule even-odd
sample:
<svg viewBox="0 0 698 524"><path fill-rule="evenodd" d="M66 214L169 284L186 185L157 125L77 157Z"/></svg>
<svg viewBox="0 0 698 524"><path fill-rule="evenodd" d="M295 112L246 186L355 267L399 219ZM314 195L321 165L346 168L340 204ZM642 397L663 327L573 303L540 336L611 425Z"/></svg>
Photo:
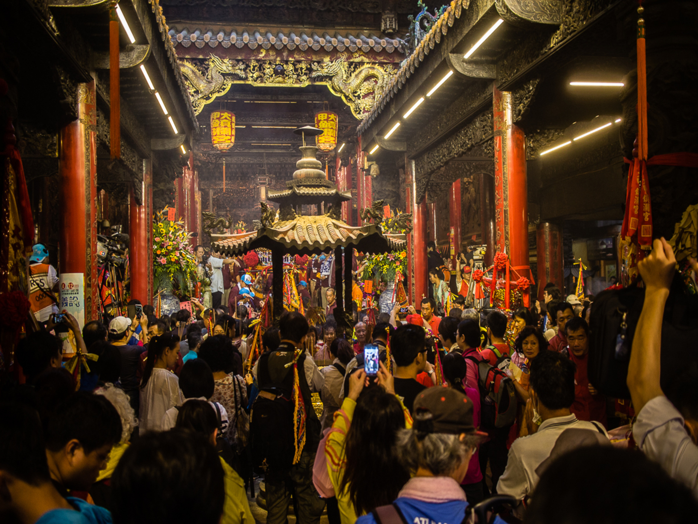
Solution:
<svg viewBox="0 0 698 524"><path fill-rule="evenodd" d="M470 0L453 0L451 2L451 5L448 6L443 15L439 17L419 45L417 45L415 51L403 61L403 65L397 74L391 78L383 94L376 100L376 103L373 104L373 109L366 114L359 124L359 134L369 129L373 120L378 117L378 114L383 111L389 101L398 94L399 90L406 84L407 79L410 78L412 73L415 72L415 69L419 67L419 64L422 64L429 52L433 50L434 46L437 46L441 42L442 36L448 33L448 28L452 27L456 18L461 17L463 8L467 9L469 4Z"/></svg>

